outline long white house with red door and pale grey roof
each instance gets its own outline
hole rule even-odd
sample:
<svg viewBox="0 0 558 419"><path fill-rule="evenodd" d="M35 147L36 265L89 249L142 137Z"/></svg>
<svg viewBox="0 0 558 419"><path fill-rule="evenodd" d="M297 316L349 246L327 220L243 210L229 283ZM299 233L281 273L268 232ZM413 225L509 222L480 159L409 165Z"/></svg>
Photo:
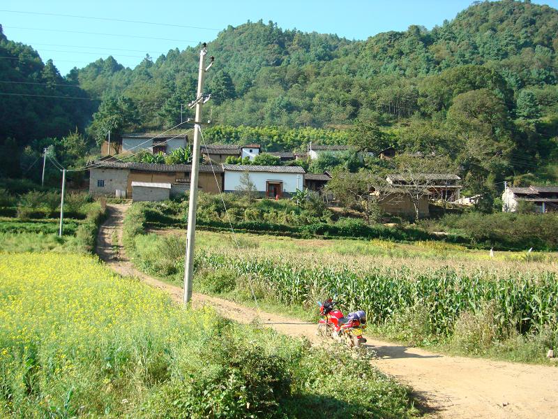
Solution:
<svg viewBox="0 0 558 419"><path fill-rule="evenodd" d="M296 189L303 189L304 169L300 166L252 166L224 164L225 192L238 191L241 177L250 177L257 191L270 198L290 196Z"/></svg>

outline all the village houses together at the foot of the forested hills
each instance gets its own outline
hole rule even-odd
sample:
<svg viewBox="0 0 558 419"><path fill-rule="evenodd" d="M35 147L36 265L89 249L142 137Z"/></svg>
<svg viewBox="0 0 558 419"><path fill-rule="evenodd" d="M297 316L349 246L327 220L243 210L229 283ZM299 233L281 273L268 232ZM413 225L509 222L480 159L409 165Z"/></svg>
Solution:
<svg viewBox="0 0 558 419"><path fill-rule="evenodd" d="M121 141L101 147L101 159L90 162L89 191L92 195L131 198L135 201L165 200L190 190L192 166L190 164L158 164L123 162L112 157L114 154L134 154L137 152L162 152L169 154L174 149L188 147L187 135L167 135L153 138L149 133L125 134ZM321 154L338 154L349 150L346 145L312 145L305 153L271 152L280 161L297 159L318 159ZM324 200L334 200L323 193L324 187L332 179L331 172L307 173L301 166L257 166L255 164L227 164L227 158L253 161L262 152L258 144L210 144L202 145L204 164L199 166L197 187L206 193L236 192L243 188L246 176L255 186L259 196L280 199L289 198L298 190L308 189L323 196ZM376 155L376 154L375 154ZM389 147L377 154L380 159L391 159L395 149ZM478 196L460 196L460 177L453 173L423 174L427 193L418 199L420 216L429 215L429 200L472 205ZM384 212L397 215L414 214L411 198L402 193L412 187L409 179L399 174L386 178L390 188L382 191L382 199L377 200ZM370 191L371 195L379 193ZM541 212L549 210L549 205L558 203L558 187L506 188L503 195L504 211L515 211L520 200L533 202Z"/></svg>

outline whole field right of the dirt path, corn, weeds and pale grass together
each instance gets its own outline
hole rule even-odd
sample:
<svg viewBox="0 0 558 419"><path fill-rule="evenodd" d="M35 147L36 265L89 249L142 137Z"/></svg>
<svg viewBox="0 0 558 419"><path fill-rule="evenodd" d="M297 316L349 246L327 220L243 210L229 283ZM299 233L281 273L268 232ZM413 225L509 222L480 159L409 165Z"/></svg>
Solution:
<svg viewBox="0 0 558 419"><path fill-rule="evenodd" d="M163 233L135 237L135 263L181 284L185 242L172 231ZM315 301L339 293L345 309L368 311L370 332L384 339L539 363L548 362L546 350L557 346L556 314L550 308L558 295L552 285L555 253L496 252L490 258L486 251L441 242L245 234L235 240L205 231L197 234L197 249L202 252L196 259L197 291L250 307L255 306L251 285L260 308L314 321ZM487 313L486 303L495 301L502 307ZM539 310L543 317L537 317Z"/></svg>

